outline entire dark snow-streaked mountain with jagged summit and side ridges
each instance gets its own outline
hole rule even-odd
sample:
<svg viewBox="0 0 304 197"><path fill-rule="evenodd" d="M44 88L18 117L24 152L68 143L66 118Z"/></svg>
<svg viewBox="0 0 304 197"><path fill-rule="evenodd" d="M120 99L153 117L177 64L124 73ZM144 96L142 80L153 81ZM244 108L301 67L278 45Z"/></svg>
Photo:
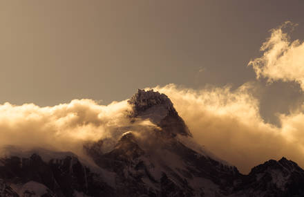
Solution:
<svg viewBox="0 0 304 197"><path fill-rule="evenodd" d="M167 95L138 90L128 103L129 126L111 149L107 139L84 144L87 160L39 149L1 158L0 196L304 196L295 162L269 160L244 175L193 141ZM153 126L135 126L143 120Z"/></svg>

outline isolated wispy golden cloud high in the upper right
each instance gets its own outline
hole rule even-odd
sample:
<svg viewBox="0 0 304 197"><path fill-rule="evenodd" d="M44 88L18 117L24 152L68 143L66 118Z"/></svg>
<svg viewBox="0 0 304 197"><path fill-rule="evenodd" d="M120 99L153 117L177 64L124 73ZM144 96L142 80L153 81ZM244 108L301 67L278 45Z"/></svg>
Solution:
<svg viewBox="0 0 304 197"><path fill-rule="evenodd" d="M282 26L272 29L271 37L260 47L263 56L251 62L256 77L265 77L268 82L282 80L296 82L304 91L304 43L298 39L291 41L283 32L286 28L294 28L295 24L287 21Z"/></svg>

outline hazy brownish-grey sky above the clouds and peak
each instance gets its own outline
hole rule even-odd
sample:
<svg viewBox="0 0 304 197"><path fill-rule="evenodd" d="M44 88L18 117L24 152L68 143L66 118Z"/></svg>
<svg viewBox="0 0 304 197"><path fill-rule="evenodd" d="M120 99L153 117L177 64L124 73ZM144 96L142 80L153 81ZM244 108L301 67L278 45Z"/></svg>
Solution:
<svg viewBox="0 0 304 197"><path fill-rule="evenodd" d="M269 30L284 21L304 39L304 1L0 1L0 102L40 106L91 98L108 104L137 88L174 83L237 88L255 81ZM260 86L276 122L303 95L296 84ZM274 99L275 98L275 99Z"/></svg>

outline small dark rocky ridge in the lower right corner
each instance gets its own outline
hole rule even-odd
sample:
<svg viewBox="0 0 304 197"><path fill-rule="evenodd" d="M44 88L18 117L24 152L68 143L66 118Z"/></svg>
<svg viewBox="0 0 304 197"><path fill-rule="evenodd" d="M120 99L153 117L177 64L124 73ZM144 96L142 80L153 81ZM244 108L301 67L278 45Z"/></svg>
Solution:
<svg viewBox="0 0 304 197"><path fill-rule="evenodd" d="M269 160L251 169L236 191L247 196L304 196L304 170L286 158Z"/></svg>

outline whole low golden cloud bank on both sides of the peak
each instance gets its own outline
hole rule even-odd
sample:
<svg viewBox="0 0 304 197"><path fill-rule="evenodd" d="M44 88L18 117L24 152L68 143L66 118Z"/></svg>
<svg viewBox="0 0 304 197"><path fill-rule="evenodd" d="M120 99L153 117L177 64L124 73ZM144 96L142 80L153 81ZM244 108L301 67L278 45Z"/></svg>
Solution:
<svg viewBox="0 0 304 197"><path fill-rule="evenodd" d="M281 114L281 127L267 124L260 117L252 88L247 83L234 91L229 86L193 90L174 84L154 89L172 100L196 142L240 171L248 172L254 165L282 156L303 167L304 113L299 109L289 115ZM83 156L83 145L88 142L104 139L111 148L126 131L155 129L148 120L136 120L130 126L131 111L126 100L107 106L93 100L47 107L2 104L0 144L72 151Z"/></svg>

